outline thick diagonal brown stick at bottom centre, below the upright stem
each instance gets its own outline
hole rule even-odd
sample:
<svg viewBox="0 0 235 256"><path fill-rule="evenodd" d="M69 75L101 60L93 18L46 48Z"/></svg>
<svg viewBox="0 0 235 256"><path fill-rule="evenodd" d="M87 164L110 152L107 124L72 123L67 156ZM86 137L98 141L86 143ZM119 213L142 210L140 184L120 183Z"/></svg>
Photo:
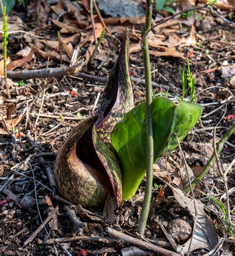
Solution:
<svg viewBox="0 0 235 256"><path fill-rule="evenodd" d="M128 243L128 244L132 244L135 246L138 246L140 248L144 248L144 249L148 249L150 251L153 251L155 253L164 255L164 256L180 256L179 254L169 251L167 249L161 248L159 246L156 245L152 245L151 243L147 243L145 241L142 241L138 238L133 238L131 236L125 235L117 230L111 229L111 228L106 228L105 230L108 234L110 234L111 236L120 239L121 241L123 241L124 243Z"/></svg>

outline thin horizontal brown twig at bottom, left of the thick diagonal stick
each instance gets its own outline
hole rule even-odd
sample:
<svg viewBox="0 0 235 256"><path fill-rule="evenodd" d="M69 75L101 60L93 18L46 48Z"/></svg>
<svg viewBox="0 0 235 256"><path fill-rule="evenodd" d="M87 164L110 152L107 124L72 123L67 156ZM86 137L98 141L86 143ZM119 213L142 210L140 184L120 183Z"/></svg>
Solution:
<svg viewBox="0 0 235 256"><path fill-rule="evenodd" d="M48 239L47 244L52 245L55 243L69 243L69 242L76 242L76 241L89 241L89 242L100 242L104 244L109 244L110 238L86 237L86 236L61 237L61 238Z"/></svg>

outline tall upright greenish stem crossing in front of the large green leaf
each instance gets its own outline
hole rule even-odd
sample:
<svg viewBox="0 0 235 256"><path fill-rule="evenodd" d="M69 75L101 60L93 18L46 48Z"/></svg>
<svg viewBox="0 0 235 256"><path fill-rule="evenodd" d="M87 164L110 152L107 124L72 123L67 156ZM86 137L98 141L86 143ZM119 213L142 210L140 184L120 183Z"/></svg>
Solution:
<svg viewBox="0 0 235 256"><path fill-rule="evenodd" d="M142 30L142 36L151 27L152 21L153 0L147 0L146 6L146 21ZM152 123L152 81L151 81L151 66L149 56L148 37L143 40L143 57L144 57L144 73L145 73L145 88L146 88L146 136L147 136L147 165L146 165L146 185L144 201L139 219L139 234L144 235L149 208L151 203L152 185L153 185L153 123Z"/></svg>

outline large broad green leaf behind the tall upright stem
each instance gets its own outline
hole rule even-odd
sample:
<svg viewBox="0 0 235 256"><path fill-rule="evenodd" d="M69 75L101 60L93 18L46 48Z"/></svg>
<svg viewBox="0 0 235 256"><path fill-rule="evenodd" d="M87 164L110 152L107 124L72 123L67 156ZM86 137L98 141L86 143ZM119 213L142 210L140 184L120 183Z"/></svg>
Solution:
<svg viewBox="0 0 235 256"><path fill-rule="evenodd" d="M154 161L168 150L177 147L199 119L202 107L189 102L177 105L165 97L153 99ZM134 196L146 169L146 104L130 110L119 122L112 134L111 142L122 164L122 201Z"/></svg>

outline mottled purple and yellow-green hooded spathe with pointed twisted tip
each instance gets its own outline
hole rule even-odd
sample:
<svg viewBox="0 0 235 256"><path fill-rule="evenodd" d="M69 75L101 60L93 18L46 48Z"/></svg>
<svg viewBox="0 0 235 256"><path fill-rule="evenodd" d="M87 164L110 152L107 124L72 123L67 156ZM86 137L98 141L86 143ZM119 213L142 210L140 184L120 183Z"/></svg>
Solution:
<svg viewBox="0 0 235 256"><path fill-rule="evenodd" d="M54 176L59 193L86 207L103 208L109 194L121 203L122 178L110 135L133 108L128 74L129 31L125 30L117 62L96 111L97 116L73 128L58 151Z"/></svg>

